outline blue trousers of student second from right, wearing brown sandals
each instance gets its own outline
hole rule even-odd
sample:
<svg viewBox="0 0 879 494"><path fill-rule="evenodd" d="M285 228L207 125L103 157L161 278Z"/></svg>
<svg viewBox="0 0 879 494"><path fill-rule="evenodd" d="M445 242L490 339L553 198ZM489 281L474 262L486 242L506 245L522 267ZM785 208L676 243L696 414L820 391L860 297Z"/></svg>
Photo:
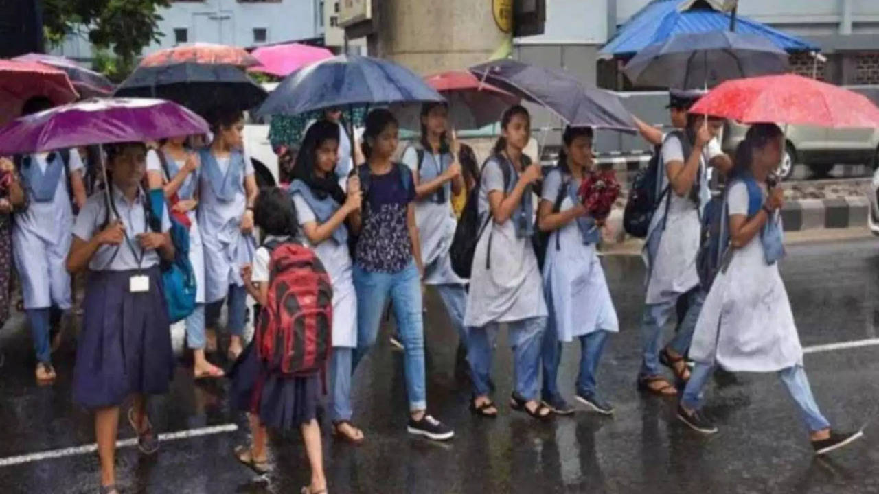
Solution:
<svg viewBox="0 0 879 494"><path fill-rule="evenodd" d="M706 293L700 288L680 294L689 299L689 308L686 309L684 320L677 326L677 332L669 342L668 347L679 355L685 355L693 341L693 331L696 322L699 321L699 313L702 303L705 302ZM675 309L675 301L647 304L644 306L644 314L641 321L642 360L639 377L659 375L659 351L662 349L662 333L668 317Z"/></svg>

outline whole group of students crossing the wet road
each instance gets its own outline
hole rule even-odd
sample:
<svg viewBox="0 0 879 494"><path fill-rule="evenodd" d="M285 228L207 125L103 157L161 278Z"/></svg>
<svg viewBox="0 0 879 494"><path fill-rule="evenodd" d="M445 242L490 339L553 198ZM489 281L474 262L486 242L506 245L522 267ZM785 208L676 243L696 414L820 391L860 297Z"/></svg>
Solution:
<svg viewBox="0 0 879 494"><path fill-rule="evenodd" d="M670 367L685 387L679 418L698 431L715 432L699 409L716 366L779 371L818 453L857 439L860 432L833 432L817 409L778 272L779 256L766 256L781 243L783 197L767 185L783 149L781 131L772 124L754 125L733 163L713 139L719 120L688 115L692 101L676 98L672 121L681 132L653 137L662 142L658 182L664 193L645 246L649 269L639 387L676 395L678 389L659 370L660 364ZM341 440L364 440L352 424L352 377L374 345L389 301L405 352L407 431L431 440L454 436L427 413L423 285L437 290L458 332L476 416L495 418L500 412L491 398L490 369L501 324L508 328L514 354L512 410L539 420L573 413L556 381L562 343L578 338L575 399L590 410L614 412L596 378L607 338L619 331L597 252L603 222L592 218L578 198L578 185L592 169L592 130L566 128L558 163L544 176L540 163L523 152L530 116L524 107L512 106L502 115L502 136L475 172L473 163L461 164L465 153L449 130L447 110L441 103L424 105L420 139L400 162L394 160L398 126L388 110L367 115L362 146L354 147L356 162L349 161L347 149L340 150L340 142L348 142L344 127L318 120L304 136L286 189L258 190L243 153L240 113L218 115L212 141L199 149L187 148L184 136L158 149L137 142L106 146L109 193L99 191L87 200L76 184L81 164L75 152L69 158L55 152L19 160L21 184L10 189L11 202L20 207L12 240L40 362L38 379L54 377L47 348L52 308L71 306L69 273L89 272L73 394L76 403L95 411L102 493L117 492L114 448L127 396L134 395L127 418L138 447L144 454L158 447L147 396L167 392L174 366L159 271L160 260L174 256L171 214L185 215L190 224L198 305L185 320L185 332L194 376L223 375L207 354L216 350L225 303L228 355L235 361L229 370L230 402L251 413L252 429L251 444L234 453L258 473L269 469L265 427L298 428L312 472L303 492L326 491L316 422L318 377L265 375L252 344L243 341L246 297L265 304L269 243L309 246L329 274L334 312L329 411L333 434ZM339 166L345 162L349 165ZM62 179L65 165L79 205L75 221ZM701 207L710 198L709 166L726 176L735 254L710 284L696 270ZM156 217L146 191L159 188L170 210ZM464 280L449 255L456 228L453 200L476 188L481 228L471 275ZM67 224L72 229L59 228ZM537 230L549 233L542 266L532 243ZM662 330L677 302L678 331L663 346ZM692 371L687 359L695 362Z"/></svg>

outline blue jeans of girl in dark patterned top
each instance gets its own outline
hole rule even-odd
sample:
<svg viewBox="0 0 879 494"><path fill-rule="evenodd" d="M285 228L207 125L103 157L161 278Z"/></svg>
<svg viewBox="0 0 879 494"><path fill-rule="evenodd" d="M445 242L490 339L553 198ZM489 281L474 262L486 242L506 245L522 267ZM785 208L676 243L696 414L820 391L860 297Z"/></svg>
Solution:
<svg viewBox="0 0 879 494"><path fill-rule="evenodd" d="M368 272L359 265L353 269L357 291L357 350L353 368L369 352L378 336L381 314L388 298L394 304L397 331L403 338L403 371L409 410L427 409L425 389L425 328L421 317L421 281L415 261L399 272Z"/></svg>

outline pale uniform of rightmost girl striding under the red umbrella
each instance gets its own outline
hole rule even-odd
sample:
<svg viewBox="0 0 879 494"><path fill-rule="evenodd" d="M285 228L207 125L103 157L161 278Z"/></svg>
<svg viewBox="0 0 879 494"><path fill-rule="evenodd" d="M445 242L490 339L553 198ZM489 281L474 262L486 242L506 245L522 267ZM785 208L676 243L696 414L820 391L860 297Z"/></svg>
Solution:
<svg viewBox="0 0 879 494"><path fill-rule="evenodd" d="M759 184L759 204L766 185ZM727 207L733 214L752 216L748 187L730 185ZM777 372L801 411L810 431L830 427L817 408L803 370L803 347L797 335L788 293L778 262L767 262L766 251L782 243L781 215L744 247L733 251L726 270L717 273L696 323L690 358L696 362L682 403L690 410L701 405L701 390L715 366L732 372ZM774 244L776 249L770 246Z"/></svg>

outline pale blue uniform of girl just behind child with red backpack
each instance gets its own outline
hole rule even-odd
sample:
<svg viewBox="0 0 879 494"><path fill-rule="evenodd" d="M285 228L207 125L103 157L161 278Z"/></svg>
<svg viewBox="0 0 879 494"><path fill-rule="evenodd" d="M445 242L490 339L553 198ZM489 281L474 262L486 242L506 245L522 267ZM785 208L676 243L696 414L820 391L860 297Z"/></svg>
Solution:
<svg viewBox="0 0 879 494"><path fill-rule="evenodd" d="M198 222L205 265L205 319L215 327L222 301L229 304L229 331L244 331L246 292L241 267L251 263L256 241L241 232L241 218L247 209L244 179L254 173L253 164L242 151L234 149L225 158L215 157L211 149L199 151Z"/></svg>

